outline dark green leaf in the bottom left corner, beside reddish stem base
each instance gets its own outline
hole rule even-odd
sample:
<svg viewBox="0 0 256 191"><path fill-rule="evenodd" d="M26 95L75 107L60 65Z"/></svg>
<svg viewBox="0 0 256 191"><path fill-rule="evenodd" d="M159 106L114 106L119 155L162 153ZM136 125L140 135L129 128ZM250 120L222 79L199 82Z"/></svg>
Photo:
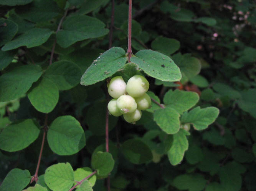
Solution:
<svg viewBox="0 0 256 191"><path fill-rule="evenodd" d="M21 191L29 184L30 179L28 170L13 168L3 180L0 191Z"/></svg>

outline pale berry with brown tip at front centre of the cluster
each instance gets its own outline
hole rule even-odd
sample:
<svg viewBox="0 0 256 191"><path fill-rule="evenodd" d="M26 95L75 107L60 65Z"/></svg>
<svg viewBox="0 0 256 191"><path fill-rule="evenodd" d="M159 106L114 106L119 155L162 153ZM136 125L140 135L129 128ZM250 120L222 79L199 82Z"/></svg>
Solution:
<svg viewBox="0 0 256 191"><path fill-rule="evenodd" d="M132 113L137 108L135 99L130 95L121 95L117 99L116 105L121 110L121 113Z"/></svg>

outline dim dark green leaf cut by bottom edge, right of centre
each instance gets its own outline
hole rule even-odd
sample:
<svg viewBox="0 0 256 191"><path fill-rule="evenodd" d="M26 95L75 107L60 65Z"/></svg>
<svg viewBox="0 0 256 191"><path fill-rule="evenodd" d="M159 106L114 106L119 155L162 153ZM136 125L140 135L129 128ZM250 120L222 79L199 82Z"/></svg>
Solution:
<svg viewBox="0 0 256 191"><path fill-rule="evenodd" d="M200 174L185 174L176 176L172 185L179 190L201 191L205 188L206 180Z"/></svg>

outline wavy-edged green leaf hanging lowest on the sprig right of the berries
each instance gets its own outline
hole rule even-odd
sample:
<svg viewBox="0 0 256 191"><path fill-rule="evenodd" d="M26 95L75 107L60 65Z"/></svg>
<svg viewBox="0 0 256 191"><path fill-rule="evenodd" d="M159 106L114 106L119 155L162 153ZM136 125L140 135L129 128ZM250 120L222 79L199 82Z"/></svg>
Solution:
<svg viewBox="0 0 256 191"><path fill-rule="evenodd" d="M167 151L168 159L172 165L179 164L188 150L188 140L186 135L189 135L184 129L180 129L178 133L173 134L173 142L169 151Z"/></svg>

